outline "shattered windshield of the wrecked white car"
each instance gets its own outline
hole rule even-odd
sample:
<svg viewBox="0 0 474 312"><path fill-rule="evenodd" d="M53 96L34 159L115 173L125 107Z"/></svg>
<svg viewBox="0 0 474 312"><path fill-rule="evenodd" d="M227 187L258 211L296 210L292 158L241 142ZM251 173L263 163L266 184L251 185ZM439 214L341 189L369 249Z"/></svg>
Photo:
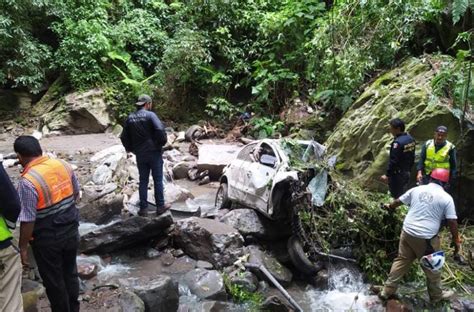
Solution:
<svg viewBox="0 0 474 312"><path fill-rule="evenodd" d="M283 139L279 143L286 156L288 156L290 167L294 168L317 166L326 150L324 145L316 141Z"/></svg>

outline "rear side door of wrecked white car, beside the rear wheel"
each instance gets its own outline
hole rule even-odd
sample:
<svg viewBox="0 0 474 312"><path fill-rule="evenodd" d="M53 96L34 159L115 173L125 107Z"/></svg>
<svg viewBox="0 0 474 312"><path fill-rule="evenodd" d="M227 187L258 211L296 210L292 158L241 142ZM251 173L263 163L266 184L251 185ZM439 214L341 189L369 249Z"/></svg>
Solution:
<svg viewBox="0 0 474 312"><path fill-rule="evenodd" d="M246 204L244 199L248 188L246 184L247 172L244 168L247 168L254 162L252 152L255 150L256 146L256 143L244 146L227 170L228 195L230 199L242 204Z"/></svg>

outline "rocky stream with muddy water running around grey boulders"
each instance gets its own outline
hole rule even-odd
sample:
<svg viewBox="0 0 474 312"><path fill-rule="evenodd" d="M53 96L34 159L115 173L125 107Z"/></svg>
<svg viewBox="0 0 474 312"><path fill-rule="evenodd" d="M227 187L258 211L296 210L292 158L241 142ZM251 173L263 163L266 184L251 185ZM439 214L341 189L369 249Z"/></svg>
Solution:
<svg viewBox="0 0 474 312"><path fill-rule="evenodd" d="M175 136L177 137L177 136ZM219 148L220 140L204 141ZM19 176L12 141L0 143L7 171ZM218 182L191 181L201 164L189 143L164 152L165 196L171 213L137 216L138 173L112 134L54 136L41 140L46 153L67 159L82 186L79 204L82 311L249 311L251 302L233 302L228 285L263 294L263 309L293 308L271 283L243 266L264 264L304 311L383 310L356 267L334 264L309 283L291 264L288 233L245 208L221 210L214 201ZM216 148L216 147L214 147ZM227 151L240 146L225 145ZM203 181L204 180L204 181ZM150 180L152 183L152 180ZM150 193L150 195L152 195ZM151 199L153 202L153 199ZM49 311L39 276L24 274L26 311Z"/></svg>

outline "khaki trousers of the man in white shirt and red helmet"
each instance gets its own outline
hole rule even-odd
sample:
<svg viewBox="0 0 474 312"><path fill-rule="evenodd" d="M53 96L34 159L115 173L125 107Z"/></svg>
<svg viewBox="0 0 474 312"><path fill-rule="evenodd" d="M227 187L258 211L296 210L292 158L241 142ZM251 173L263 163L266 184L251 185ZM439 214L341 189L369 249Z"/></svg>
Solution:
<svg viewBox="0 0 474 312"><path fill-rule="evenodd" d="M439 237L435 236L431 239L431 246L435 251L440 250ZM405 231L400 235L400 244L398 246L398 256L395 258L390 270L387 281L385 282L384 292L387 296L393 295L398 288L403 276L410 269L411 264L416 259L420 259L425 255L426 241L422 238L413 237ZM428 286L428 294L431 300L441 297L441 272L432 272L422 266L426 275L426 284Z"/></svg>

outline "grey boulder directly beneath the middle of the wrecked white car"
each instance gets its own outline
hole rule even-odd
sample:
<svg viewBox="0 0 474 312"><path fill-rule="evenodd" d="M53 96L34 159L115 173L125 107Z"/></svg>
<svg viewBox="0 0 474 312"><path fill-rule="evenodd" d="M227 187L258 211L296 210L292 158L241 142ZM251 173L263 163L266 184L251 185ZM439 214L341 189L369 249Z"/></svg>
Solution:
<svg viewBox="0 0 474 312"><path fill-rule="evenodd" d="M286 231L281 226L278 227L276 223L266 220L253 209L234 209L219 220L239 230L244 237L254 236L264 240L276 240L290 234L290 230Z"/></svg>

